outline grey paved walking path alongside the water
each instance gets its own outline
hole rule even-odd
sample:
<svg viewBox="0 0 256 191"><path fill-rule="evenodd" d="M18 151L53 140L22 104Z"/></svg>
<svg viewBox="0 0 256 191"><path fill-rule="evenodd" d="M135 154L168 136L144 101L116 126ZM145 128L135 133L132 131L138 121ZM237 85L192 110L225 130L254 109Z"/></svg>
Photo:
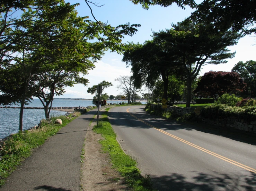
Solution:
<svg viewBox="0 0 256 191"><path fill-rule="evenodd" d="M97 109L80 115L36 149L0 191L80 191L80 156Z"/></svg>

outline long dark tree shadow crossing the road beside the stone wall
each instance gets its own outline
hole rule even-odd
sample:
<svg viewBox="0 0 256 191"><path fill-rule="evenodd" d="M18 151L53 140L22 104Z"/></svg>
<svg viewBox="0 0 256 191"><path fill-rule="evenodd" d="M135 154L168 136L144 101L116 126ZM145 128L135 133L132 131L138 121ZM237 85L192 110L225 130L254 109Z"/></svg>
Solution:
<svg viewBox="0 0 256 191"><path fill-rule="evenodd" d="M115 117L112 117L115 116ZM149 129L152 128L150 125L146 123L138 123L138 119L134 118L135 116L138 119L142 119L144 122L153 125L164 131L177 131L177 130L186 130L192 131L197 130L204 133L220 135L222 137L227 137L232 140L236 140L239 142L249 143L252 145L256 145L256 135L250 132L244 132L241 130L232 130L227 128L221 128L213 125L203 124L203 123L195 123L188 124L183 122L178 122L174 120L167 120L159 116L151 115L146 113L143 108L141 108L140 112L136 113L127 113L127 112L110 112L109 117L111 124L120 125L125 127L133 127L140 129ZM123 120L122 120L123 119ZM129 119L129 120L127 120Z"/></svg>

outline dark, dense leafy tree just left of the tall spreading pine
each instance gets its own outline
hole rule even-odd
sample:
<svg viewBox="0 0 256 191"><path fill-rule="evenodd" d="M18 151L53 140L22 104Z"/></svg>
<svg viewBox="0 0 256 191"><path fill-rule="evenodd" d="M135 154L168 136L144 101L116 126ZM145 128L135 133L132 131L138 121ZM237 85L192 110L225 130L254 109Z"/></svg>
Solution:
<svg viewBox="0 0 256 191"><path fill-rule="evenodd" d="M159 38L144 44L129 43L127 46L129 49L124 52L122 61L131 66L135 86L144 84L152 88L161 77L164 82L162 97L168 100L168 78L171 74L178 73L181 67L177 62L176 50L166 46Z"/></svg>

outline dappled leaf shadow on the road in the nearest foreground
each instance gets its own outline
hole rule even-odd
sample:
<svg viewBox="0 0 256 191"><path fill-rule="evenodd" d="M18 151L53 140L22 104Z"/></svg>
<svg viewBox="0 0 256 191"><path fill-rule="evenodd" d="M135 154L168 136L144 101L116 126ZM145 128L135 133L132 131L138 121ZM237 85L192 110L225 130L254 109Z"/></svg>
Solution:
<svg viewBox="0 0 256 191"><path fill-rule="evenodd" d="M159 191L255 191L256 174L250 175L229 175L212 172L206 174L197 172L191 179L182 174L172 173L161 177L151 176L154 187Z"/></svg>

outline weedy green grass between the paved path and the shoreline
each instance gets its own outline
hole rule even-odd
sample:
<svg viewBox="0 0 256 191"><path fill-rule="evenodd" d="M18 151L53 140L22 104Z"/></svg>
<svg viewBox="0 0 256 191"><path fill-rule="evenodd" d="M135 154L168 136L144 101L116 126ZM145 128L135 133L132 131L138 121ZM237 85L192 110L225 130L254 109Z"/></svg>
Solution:
<svg viewBox="0 0 256 191"><path fill-rule="evenodd" d="M80 113L76 114L77 116L80 115ZM5 184L6 179L21 162L31 155L32 149L42 145L48 137L56 134L76 117L71 117L70 119L66 118L66 116L52 117L51 121L55 121L58 118L62 120L62 125L43 124L39 129L19 132L3 142L0 147L2 157L0 161L0 187Z"/></svg>

